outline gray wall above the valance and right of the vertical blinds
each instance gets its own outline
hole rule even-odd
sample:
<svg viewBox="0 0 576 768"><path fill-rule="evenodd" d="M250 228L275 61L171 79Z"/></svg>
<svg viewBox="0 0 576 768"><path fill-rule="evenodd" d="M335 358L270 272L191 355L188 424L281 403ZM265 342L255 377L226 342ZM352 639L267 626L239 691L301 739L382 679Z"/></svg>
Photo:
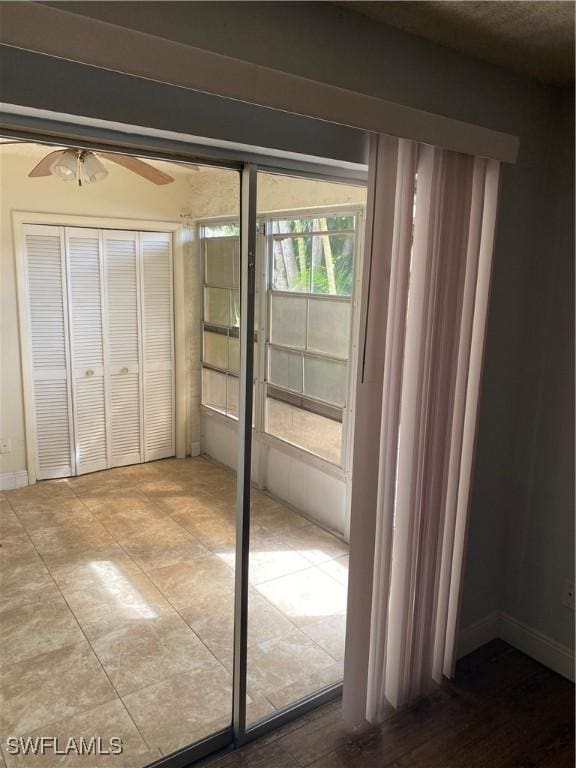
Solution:
<svg viewBox="0 0 576 768"><path fill-rule="evenodd" d="M569 642L557 590L574 541L561 94L329 3L53 5L520 137L502 179L462 619L502 607Z"/></svg>

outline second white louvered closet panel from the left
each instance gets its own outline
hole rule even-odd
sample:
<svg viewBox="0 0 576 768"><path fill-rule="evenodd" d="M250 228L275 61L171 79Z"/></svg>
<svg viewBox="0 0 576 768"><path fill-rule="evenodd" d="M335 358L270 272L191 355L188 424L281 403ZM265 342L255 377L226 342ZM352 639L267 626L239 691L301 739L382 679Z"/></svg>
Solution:
<svg viewBox="0 0 576 768"><path fill-rule="evenodd" d="M76 473L106 469L107 403L100 232L66 228Z"/></svg>

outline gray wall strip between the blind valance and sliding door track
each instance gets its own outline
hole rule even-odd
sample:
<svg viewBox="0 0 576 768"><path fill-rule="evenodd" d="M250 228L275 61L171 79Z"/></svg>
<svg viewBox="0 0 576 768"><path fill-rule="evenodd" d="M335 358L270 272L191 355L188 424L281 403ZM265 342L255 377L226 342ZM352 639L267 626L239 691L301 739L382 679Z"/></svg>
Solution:
<svg viewBox="0 0 576 768"><path fill-rule="evenodd" d="M365 131L4 45L0 45L0 85L7 104L350 163L368 162ZM129 98L111 99L111 93L129 94ZM206 147L203 151L209 156ZM221 148L212 152L220 160L226 155Z"/></svg>

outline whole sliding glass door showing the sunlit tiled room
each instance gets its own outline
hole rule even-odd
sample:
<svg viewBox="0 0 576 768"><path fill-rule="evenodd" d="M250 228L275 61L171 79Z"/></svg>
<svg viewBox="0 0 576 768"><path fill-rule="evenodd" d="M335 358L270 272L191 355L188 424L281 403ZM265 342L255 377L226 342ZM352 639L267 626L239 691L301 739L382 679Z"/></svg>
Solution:
<svg viewBox="0 0 576 768"><path fill-rule="evenodd" d="M4 562L34 565L6 587L6 722L40 733L54 669L61 737L94 715L119 762L183 768L342 678L364 189L156 153L137 178L124 148L81 190L22 144L22 200L92 202L14 218L42 482L4 504Z"/></svg>

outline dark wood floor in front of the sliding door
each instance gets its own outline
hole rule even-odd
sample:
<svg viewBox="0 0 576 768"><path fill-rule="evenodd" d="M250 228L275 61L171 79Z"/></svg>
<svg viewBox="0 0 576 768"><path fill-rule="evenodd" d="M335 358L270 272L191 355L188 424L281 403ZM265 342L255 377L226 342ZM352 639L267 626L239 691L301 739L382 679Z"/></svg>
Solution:
<svg viewBox="0 0 576 768"><path fill-rule="evenodd" d="M333 702L210 768L574 768L574 685L494 641L378 726L346 726Z"/></svg>

